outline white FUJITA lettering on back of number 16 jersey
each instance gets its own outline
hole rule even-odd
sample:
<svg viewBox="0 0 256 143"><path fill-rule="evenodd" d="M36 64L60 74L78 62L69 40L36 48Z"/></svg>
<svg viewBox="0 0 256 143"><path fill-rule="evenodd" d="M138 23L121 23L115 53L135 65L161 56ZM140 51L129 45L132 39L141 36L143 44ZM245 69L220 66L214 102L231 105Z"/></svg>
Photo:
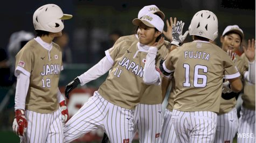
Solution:
<svg viewBox="0 0 256 143"><path fill-rule="evenodd" d="M185 58L198 58L209 61L210 54L202 51L184 51Z"/></svg>

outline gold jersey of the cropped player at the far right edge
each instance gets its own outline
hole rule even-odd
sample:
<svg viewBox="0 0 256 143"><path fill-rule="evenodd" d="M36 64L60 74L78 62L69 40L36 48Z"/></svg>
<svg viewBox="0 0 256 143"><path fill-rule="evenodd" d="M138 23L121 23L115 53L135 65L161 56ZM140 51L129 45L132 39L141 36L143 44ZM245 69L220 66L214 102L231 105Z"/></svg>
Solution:
<svg viewBox="0 0 256 143"><path fill-rule="evenodd" d="M248 59L245 54L241 55L241 59L243 59L243 64L246 69L245 71L248 71ZM246 80L243 82L243 84L244 93L241 96L243 99L243 107L250 110L255 110L255 84L251 84Z"/></svg>

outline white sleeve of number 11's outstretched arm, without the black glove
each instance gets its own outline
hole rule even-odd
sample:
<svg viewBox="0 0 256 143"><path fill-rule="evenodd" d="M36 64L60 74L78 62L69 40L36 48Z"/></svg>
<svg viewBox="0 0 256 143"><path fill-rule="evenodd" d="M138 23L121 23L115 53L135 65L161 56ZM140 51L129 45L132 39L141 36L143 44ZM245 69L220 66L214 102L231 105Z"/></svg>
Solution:
<svg viewBox="0 0 256 143"><path fill-rule="evenodd" d="M79 76L81 85L85 85L87 82L99 78L112 68L112 64L108 61L107 57L103 57L101 61L95 64L91 69Z"/></svg>

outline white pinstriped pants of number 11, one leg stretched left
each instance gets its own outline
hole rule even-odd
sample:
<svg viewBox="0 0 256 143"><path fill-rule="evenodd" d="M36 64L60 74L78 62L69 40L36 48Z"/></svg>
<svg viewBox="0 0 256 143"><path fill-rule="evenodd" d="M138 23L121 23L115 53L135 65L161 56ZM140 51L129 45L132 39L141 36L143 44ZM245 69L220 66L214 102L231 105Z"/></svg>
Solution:
<svg viewBox="0 0 256 143"><path fill-rule="evenodd" d="M102 128L110 142L131 143L134 110L116 106L98 93L82 106L64 125L64 142L71 142L82 135Z"/></svg>

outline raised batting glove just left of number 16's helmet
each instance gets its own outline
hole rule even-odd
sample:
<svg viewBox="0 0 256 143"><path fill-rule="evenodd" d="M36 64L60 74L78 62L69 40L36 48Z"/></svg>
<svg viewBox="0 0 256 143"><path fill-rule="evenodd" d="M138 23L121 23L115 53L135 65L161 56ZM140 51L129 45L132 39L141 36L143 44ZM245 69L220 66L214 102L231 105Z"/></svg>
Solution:
<svg viewBox="0 0 256 143"><path fill-rule="evenodd" d="M182 30L184 27L184 22L177 21L175 26L172 26L172 41L171 44L176 45L177 47L181 46L181 43L186 39L186 36L189 34L189 31L186 31L182 35Z"/></svg>

